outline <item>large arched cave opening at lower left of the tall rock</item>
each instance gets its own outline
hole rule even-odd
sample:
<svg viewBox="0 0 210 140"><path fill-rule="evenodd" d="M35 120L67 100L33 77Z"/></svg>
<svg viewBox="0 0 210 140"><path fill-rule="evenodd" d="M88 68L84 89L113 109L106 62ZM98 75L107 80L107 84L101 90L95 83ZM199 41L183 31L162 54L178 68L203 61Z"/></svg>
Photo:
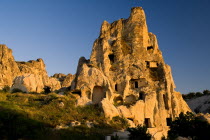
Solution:
<svg viewBox="0 0 210 140"><path fill-rule="evenodd" d="M106 97L106 93L104 92L103 87L95 86L93 88L93 95L92 95L93 104L100 103L103 100L103 98L105 98L105 97Z"/></svg>

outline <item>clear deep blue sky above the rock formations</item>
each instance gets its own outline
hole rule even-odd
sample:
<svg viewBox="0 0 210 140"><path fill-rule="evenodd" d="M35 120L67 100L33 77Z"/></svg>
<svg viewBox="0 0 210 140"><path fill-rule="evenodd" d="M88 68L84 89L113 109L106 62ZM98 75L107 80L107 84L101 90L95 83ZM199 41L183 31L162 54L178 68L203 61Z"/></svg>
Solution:
<svg viewBox="0 0 210 140"><path fill-rule="evenodd" d="M177 91L210 89L210 0L1 0L0 43L15 59L43 58L49 75L75 73L103 20L142 6L172 67Z"/></svg>

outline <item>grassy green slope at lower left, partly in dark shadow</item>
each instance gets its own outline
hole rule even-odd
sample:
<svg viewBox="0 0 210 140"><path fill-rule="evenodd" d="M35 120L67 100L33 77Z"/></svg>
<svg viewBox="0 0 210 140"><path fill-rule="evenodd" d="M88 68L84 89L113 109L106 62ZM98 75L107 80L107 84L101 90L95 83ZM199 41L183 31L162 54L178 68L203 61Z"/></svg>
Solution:
<svg viewBox="0 0 210 140"><path fill-rule="evenodd" d="M71 94L0 92L0 139L97 140L116 129L98 106L75 104ZM72 127L74 122L81 125ZM118 123L117 129L124 128Z"/></svg>

